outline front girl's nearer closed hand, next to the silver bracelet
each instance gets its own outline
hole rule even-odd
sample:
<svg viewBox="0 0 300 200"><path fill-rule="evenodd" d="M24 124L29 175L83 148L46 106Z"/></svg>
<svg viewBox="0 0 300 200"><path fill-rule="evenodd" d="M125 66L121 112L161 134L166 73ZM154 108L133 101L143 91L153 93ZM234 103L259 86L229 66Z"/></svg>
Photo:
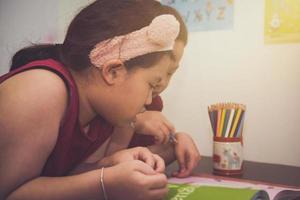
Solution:
<svg viewBox="0 0 300 200"><path fill-rule="evenodd" d="M108 199L157 200L168 193L167 177L139 160L104 169Z"/></svg>

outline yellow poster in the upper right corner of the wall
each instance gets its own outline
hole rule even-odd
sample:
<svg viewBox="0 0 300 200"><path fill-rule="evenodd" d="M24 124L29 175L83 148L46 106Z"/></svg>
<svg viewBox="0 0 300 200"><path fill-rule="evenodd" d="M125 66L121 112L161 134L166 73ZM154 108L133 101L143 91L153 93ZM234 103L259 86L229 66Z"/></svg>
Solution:
<svg viewBox="0 0 300 200"><path fill-rule="evenodd" d="M300 0L266 0L265 43L300 42Z"/></svg>

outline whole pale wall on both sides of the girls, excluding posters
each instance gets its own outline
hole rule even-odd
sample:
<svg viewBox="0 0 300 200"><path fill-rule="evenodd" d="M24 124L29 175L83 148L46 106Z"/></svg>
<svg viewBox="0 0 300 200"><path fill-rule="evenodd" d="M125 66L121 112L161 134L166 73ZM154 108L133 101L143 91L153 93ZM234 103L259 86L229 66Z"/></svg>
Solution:
<svg viewBox="0 0 300 200"><path fill-rule="evenodd" d="M0 1L0 74L29 41L62 41L61 27L88 0L58 2ZM300 166L300 44L264 45L264 1L236 0L234 12L234 30L189 35L164 113L211 155L207 106L244 103L245 159Z"/></svg>

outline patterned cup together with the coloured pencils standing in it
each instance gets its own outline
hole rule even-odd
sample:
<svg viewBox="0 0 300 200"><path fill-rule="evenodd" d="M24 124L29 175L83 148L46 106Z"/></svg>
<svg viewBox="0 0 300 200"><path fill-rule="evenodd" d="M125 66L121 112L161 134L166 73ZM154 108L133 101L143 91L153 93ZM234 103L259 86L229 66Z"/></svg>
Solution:
<svg viewBox="0 0 300 200"><path fill-rule="evenodd" d="M243 126L246 106L219 103L208 107L213 130L213 172L240 175L243 172Z"/></svg>

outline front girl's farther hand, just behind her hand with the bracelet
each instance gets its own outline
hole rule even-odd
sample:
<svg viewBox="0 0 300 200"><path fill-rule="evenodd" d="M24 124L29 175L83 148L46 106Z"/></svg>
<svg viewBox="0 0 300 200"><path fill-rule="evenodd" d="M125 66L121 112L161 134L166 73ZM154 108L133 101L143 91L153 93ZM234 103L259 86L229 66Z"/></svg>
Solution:
<svg viewBox="0 0 300 200"><path fill-rule="evenodd" d="M114 166L122 162L140 160L148 164L156 172L164 172L165 162L157 154L151 153L151 151L145 147L135 147L126 150L118 151L111 156L104 157L98 162L99 166Z"/></svg>

